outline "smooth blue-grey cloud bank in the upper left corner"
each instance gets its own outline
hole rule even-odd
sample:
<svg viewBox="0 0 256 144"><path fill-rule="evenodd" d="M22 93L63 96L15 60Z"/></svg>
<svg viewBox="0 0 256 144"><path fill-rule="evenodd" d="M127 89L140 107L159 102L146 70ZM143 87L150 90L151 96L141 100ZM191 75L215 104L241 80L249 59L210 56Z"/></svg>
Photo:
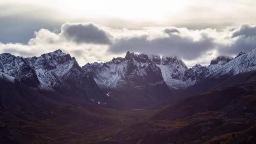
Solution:
<svg viewBox="0 0 256 144"><path fill-rule="evenodd" d="M65 22L54 17L59 15L56 11L41 6L0 4L0 10L1 43L27 43L34 31L54 30Z"/></svg>

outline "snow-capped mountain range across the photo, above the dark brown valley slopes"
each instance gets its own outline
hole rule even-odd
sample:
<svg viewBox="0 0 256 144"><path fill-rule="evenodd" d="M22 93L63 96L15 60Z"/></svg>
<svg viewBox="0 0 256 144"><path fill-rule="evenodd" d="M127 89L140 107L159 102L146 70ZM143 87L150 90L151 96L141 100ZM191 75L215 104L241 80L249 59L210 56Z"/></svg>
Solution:
<svg viewBox="0 0 256 144"><path fill-rule="evenodd" d="M2 53L0 79L20 82L37 91L83 97L95 104L107 104L107 100L117 104L124 96L125 99L132 96L131 104L144 101L148 105L154 100L168 97L170 90L187 88L206 77L233 76L254 70L255 58L256 50L253 50L241 52L235 59L219 56L208 67L196 64L188 69L175 56L161 58L159 55L127 52L125 58L80 67L74 57L61 50L31 58ZM126 103L125 100L123 102Z"/></svg>

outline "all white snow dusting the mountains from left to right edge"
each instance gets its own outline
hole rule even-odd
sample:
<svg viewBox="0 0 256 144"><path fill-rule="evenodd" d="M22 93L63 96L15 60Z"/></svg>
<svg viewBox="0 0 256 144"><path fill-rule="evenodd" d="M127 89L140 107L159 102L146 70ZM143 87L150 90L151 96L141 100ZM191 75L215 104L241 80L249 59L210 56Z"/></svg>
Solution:
<svg viewBox="0 0 256 144"><path fill-rule="evenodd" d="M153 72L157 75L159 73L159 69L161 70L161 74L163 76L162 80L158 80L154 83L150 83L150 85L158 85L162 83L166 83L169 88L173 89L181 89L186 88L190 85L196 83L196 80L192 81L190 78L188 80L183 81L184 73L188 70L184 62L177 57L168 57L163 56L162 59L158 55L150 55L149 59L145 59L143 55L138 55L135 53L131 53L133 56L138 56L141 58L143 62L136 61L133 58L131 61L128 61L124 58L113 59L107 63L93 63L89 66L85 66L85 72L92 72L94 75L94 80L99 85L100 88L111 88L111 89L119 89L122 88L123 85L129 83L127 79L136 77L146 77L147 71L146 68L151 68ZM72 70L75 73L79 74L79 70L75 69L77 62L75 59L69 59L67 61L62 61L66 54L62 53L62 51L57 50L53 53L47 53L44 56L40 56L37 58L27 58L25 59L27 63L24 63L23 59L19 56L13 56L8 53L0 54L0 78L4 80L8 80L10 82L14 82L14 78L20 80L21 77L29 77L31 73L22 73L21 71L24 66L29 66L35 69L36 76L40 82L40 88L44 90L53 90L54 86L64 85L64 80L67 75L70 74ZM145 60L145 61L144 61ZM46 61L50 68L45 68L43 62ZM159 68L152 66L153 63ZM132 62L133 65L137 67L137 71L133 72L131 77L125 77L128 72L128 64ZM77 64L78 65L78 64ZM202 66L197 65L196 67L192 67L194 73L200 73L202 70L200 69ZM211 64L208 67L205 67L207 72L207 77L220 77L226 73L230 73L232 75L237 75L241 72L248 72L256 69L256 49L249 53L242 53L240 56L235 59L229 61L227 64L225 61L219 61L218 64ZM72 75L72 74L70 74ZM134 84L135 88L140 89L140 85ZM109 95L109 92L106 94ZM150 95L149 95L150 96ZM94 101L93 99L91 99ZM98 101L98 104L100 102Z"/></svg>

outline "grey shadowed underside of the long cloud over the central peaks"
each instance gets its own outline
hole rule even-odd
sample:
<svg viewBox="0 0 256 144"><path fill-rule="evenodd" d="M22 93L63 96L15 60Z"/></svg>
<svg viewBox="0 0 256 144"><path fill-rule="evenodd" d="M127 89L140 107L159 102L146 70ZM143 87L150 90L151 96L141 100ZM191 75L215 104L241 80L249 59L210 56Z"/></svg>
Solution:
<svg viewBox="0 0 256 144"><path fill-rule="evenodd" d="M191 37L181 37L171 35L169 37L159 37L148 40L148 36L121 38L110 46L109 51L113 53L123 53L134 51L138 53L155 53L165 55L175 55L183 59L195 59L214 48L213 39L202 37L194 41Z"/></svg>

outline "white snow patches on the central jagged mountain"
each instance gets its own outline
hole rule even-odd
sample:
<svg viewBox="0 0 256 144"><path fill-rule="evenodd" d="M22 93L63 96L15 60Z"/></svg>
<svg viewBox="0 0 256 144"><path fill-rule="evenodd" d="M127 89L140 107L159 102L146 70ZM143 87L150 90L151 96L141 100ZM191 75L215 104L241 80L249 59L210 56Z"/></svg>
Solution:
<svg viewBox="0 0 256 144"><path fill-rule="evenodd" d="M135 53L131 53L131 54L133 56L138 56L140 58L142 57L142 55L138 55ZM142 57L141 59L145 61L141 62L141 61L136 61L134 59L131 60L133 64L136 65L136 67L138 68L138 70L132 75L136 77L146 77L147 72L145 71L145 68L149 67L149 64L151 64L152 61L155 61L157 64L157 67L159 67L162 72L162 76L164 80L151 83L151 85L162 84L165 82L170 88L173 88L173 89L187 87L187 82L182 81L182 76L184 75L184 72L188 68L186 67L186 65L181 59L176 57L170 58L166 56L164 56L163 59L160 59L160 56L158 55L149 55L148 60L144 59L144 57ZM85 65L83 69L87 73L93 73L93 78L100 88L119 89L119 88L122 88L123 85L126 85L127 83L129 83L127 81L127 77L125 77L125 73L128 72L128 69L127 69L128 62L129 62L128 60L120 58L120 59L114 59L105 64L102 64L102 63L88 64L88 65ZM154 72L156 72L156 74L159 71L157 67L150 66L150 68ZM178 77L178 79L174 79L173 76ZM138 89L141 88L136 85L134 85L134 87Z"/></svg>

